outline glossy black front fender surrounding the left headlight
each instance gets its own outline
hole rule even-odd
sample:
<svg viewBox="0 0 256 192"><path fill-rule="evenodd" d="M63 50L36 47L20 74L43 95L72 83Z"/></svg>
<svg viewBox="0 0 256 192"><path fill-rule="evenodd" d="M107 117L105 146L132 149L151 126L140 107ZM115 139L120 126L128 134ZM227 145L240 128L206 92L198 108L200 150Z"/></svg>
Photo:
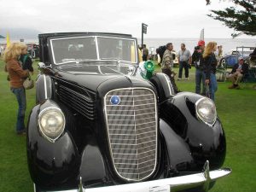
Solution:
<svg viewBox="0 0 256 192"><path fill-rule="evenodd" d="M51 104L45 102L32 108L27 127L28 168L32 181L42 189L63 188L63 183L76 183L73 179L79 172L79 153L67 127L55 143L49 142L39 132L38 113L45 108L44 105Z"/></svg>

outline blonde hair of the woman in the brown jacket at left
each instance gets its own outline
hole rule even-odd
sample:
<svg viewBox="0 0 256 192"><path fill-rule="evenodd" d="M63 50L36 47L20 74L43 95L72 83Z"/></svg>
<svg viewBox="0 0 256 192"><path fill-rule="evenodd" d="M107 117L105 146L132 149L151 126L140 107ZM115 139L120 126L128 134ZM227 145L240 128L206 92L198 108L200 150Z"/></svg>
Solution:
<svg viewBox="0 0 256 192"><path fill-rule="evenodd" d="M12 43L5 50L3 54L3 61L17 60L21 54L20 43Z"/></svg>

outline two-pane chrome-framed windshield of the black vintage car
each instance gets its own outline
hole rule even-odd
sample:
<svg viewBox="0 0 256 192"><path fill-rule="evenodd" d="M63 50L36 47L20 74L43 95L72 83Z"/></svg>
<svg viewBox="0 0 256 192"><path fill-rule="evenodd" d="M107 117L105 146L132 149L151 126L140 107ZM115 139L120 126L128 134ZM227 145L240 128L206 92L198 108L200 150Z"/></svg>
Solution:
<svg viewBox="0 0 256 192"><path fill-rule="evenodd" d="M79 37L50 40L55 64L83 61L137 63L136 41L129 38Z"/></svg>

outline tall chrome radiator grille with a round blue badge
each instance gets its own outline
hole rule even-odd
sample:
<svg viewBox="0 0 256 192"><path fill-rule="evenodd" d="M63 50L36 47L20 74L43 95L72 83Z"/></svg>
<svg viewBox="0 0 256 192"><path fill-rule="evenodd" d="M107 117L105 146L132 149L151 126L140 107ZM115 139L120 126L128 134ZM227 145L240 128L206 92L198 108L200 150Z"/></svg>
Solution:
<svg viewBox="0 0 256 192"><path fill-rule="evenodd" d="M116 172L132 181L149 177L157 157L158 117L154 92L146 88L112 90L104 100Z"/></svg>

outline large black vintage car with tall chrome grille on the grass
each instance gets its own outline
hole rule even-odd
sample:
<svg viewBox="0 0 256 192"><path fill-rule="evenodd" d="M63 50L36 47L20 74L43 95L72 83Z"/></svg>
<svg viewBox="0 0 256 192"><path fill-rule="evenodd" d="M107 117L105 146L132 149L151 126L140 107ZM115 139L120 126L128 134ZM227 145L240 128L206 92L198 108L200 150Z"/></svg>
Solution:
<svg viewBox="0 0 256 192"><path fill-rule="evenodd" d="M35 191L207 191L230 174L212 100L174 94L138 63L136 38L48 33L39 47L26 146Z"/></svg>

